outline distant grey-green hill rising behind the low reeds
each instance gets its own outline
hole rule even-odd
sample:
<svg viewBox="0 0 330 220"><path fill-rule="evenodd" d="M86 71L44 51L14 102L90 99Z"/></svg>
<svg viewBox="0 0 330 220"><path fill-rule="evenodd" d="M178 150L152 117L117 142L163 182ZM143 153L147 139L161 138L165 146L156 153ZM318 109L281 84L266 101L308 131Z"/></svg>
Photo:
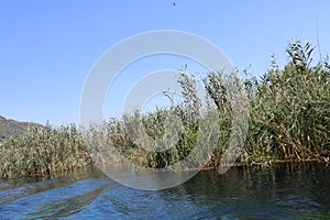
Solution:
<svg viewBox="0 0 330 220"><path fill-rule="evenodd" d="M19 138L26 133L31 125L42 127L32 122L19 122L12 119L6 119L0 116L0 143L11 138Z"/></svg>

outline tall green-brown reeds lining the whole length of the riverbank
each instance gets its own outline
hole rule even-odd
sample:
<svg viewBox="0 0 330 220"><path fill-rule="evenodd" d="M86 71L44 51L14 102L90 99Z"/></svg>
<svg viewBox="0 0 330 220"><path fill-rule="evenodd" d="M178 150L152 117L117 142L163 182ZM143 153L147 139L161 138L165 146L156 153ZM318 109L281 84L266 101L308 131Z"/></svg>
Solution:
<svg viewBox="0 0 330 220"><path fill-rule="evenodd" d="M260 78L246 72L245 79L235 73L210 73L204 79L205 100L197 96L196 79L180 73L178 84L184 100L170 108L148 113L136 110L132 116L85 129L75 124L31 128L24 138L0 145L0 177L48 175L123 161L150 168L194 168L206 162L205 168L216 167L223 158L234 125L233 107L238 101L228 82L249 98L249 130L243 147L233 152L237 163L329 161L330 65L328 59L312 65L312 50L309 43L290 43L288 64L280 69L274 59ZM170 99L168 94L165 96ZM215 114L217 120L208 117ZM209 135L215 130L217 135ZM165 138L170 143L162 141ZM202 145L216 138L213 145ZM153 146L161 148L147 151Z"/></svg>

